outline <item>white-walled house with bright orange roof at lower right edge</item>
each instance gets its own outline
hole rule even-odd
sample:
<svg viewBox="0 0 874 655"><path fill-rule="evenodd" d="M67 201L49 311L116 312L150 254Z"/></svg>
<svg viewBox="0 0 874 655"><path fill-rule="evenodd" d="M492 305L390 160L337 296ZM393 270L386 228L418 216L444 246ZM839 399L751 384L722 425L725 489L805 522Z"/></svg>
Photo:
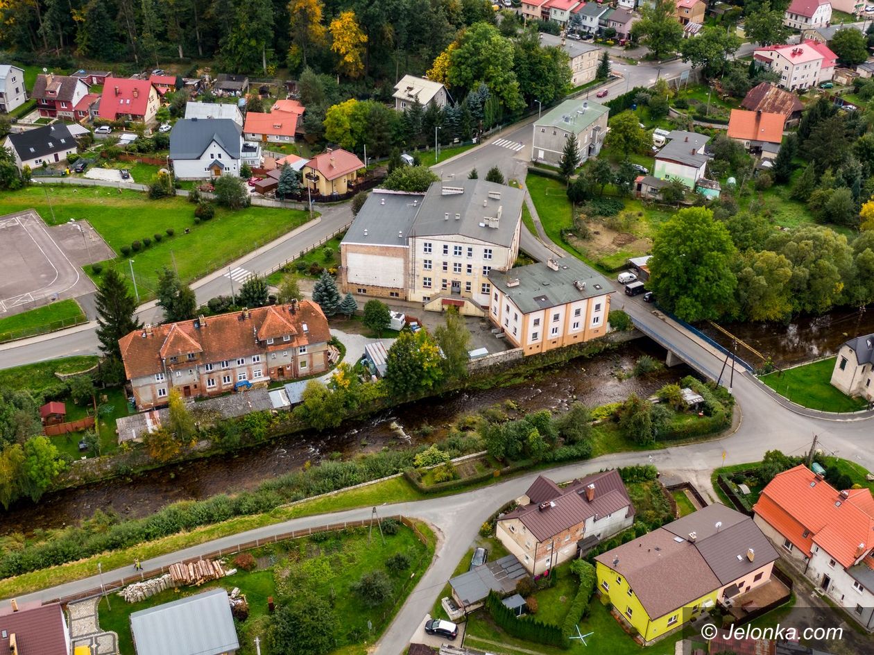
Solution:
<svg viewBox="0 0 874 655"><path fill-rule="evenodd" d="M838 491L799 464L773 477L753 506L756 525L821 594L874 631L874 497Z"/></svg>

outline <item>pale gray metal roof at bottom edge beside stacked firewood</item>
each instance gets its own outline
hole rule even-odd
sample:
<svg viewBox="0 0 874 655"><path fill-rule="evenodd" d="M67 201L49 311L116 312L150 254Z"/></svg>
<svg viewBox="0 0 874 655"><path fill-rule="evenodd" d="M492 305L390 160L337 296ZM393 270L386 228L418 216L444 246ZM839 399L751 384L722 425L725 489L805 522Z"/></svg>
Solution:
<svg viewBox="0 0 874 655"><path fill-rule="evenodd" d="M225 589L130 615L137 655L220 655L239 649Z"/></svg>

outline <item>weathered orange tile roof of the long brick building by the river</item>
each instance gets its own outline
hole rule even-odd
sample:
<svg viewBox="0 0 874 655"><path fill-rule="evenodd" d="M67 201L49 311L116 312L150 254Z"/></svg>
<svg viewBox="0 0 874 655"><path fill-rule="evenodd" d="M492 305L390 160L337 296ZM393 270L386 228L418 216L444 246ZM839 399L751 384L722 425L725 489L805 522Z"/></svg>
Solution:
<svg viewBox="0 0 874 655"><path fill-rule="evenodd" d="M283 325L288 330L281 331ZM306 325L306 330L304 330ZM265 339L290 336L276 345L260 343ZM262 338L263 337L263 338ZM130 332L119 339L128 380L163 373L164 359L180 357L178 366L190 367L185 355L201 353L198 363L215 363L245 357L265 350L287 350L301 345L322 344L330 339L328 319L322 308L302 300L292 312L292 305L275 305L219 314L199 320L156 325L149 330ZM174 365L167 363L167 366Z"/></svg>

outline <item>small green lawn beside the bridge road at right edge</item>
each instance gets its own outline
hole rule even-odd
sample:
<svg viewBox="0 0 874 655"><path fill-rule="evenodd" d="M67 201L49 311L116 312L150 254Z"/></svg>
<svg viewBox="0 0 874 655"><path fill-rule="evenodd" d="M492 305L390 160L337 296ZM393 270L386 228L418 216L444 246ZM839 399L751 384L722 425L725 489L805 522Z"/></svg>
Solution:
<svg viewBox="0 0 874 655"><path fill-rule="evenodd" d="M821 359L811 364L789 368L782 373L768 373L760 380L778 394L806 408L825 412L855 412L867 404L850 398L831 386L831 373L836 358Z"/></svg>

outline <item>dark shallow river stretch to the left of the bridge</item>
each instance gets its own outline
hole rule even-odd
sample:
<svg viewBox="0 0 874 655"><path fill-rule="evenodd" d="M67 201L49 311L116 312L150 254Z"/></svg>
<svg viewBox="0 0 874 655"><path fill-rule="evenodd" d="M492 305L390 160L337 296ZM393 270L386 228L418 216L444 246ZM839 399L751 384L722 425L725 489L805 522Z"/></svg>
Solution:
<svg viewBox="0 0 874 655"><path fill-rule="evenodd" d="M447 436L448 426L461 416L503 401L516 402L525 412L544 408L560 411L574 400L594 407L623 401L632 393L652 394L659 387L692 373L688 366L682 365L643 378L619 380L617 371L630 370L643 354L664 361L665 353L660 346L648 338L637 339L613 352L593 359L575 359L508 387L446 394L393 408L364 421L350 422L329 433L298 433L232 455L212 456L142 475L49 493L36 505L20 502L0 515L0 534L31 533L35 528L78 523L98 508L126 517L142 517L177 500L250 489L267 478L300 470L307 461L317 463L336 453L352 457L385 446L407 445L392 429L392 423L397 423L413 444L434 442ZM432 429L420 430L425 424Z"/></svg>

